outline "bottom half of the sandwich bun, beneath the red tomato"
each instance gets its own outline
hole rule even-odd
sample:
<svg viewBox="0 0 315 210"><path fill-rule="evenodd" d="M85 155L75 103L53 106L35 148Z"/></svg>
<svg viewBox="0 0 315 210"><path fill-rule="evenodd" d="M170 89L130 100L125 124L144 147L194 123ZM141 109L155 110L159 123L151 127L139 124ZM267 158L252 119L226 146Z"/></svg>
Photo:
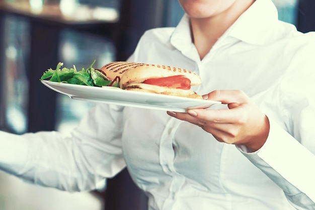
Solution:
<svg viewBox="0 0 315 210"><path fill-rule="evenodd" d="M127 86L125 90L202 99L201 95L198 95L196 92L192 90L182 90L178 88L161 87L161 86L156 86L156 85L148 85L144 83L132 84L130 86Z"/></svg>

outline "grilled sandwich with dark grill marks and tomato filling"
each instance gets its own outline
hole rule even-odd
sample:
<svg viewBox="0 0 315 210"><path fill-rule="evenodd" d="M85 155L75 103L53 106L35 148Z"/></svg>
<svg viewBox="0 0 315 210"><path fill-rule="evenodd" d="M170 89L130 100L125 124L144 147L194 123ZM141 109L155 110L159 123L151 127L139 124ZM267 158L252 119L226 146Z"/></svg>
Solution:
<svg viewBox="0 0 315 210"><path fill-rule="evenodd" d="M186 69L167 65L156 65L126 61L115 61L99 69L109 80L119 80L123 90L157 93L202 99L190 90L201 85L200 77Z"/></svg>

